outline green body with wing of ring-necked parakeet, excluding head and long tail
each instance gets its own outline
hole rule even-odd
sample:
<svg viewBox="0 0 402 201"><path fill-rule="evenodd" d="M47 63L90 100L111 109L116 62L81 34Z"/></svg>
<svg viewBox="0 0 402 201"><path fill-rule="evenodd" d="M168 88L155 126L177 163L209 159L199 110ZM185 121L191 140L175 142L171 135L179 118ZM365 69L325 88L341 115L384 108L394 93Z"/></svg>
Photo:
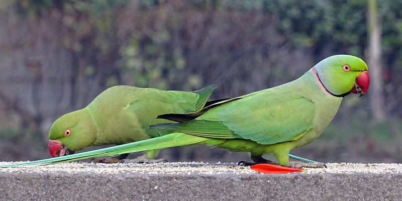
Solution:
<svg viewBox="0 0 402 201"><path fill-rule="evenodd" d="M290 150L323 132L341 100L322 91L310 70L292 82L210 106L194 120L152 128L213 138L203 144L231 151L272 153L280 164L287 164Z"/></svg>

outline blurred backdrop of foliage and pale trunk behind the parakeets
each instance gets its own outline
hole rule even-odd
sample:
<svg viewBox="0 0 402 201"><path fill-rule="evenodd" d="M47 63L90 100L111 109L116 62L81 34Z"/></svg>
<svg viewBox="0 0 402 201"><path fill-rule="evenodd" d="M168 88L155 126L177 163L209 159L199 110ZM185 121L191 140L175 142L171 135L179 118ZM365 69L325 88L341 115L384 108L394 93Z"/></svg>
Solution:
<svg viewBox="0 0 402 201"><path fill-rule="evenodd" d="M48 158L61 115L118 84L234 97L291 81L325 57L369 66L368 94L292 154L322 162L402 162L401 1L0 2L0 161ZM247 159L206 146L169 161Z"/></svg>

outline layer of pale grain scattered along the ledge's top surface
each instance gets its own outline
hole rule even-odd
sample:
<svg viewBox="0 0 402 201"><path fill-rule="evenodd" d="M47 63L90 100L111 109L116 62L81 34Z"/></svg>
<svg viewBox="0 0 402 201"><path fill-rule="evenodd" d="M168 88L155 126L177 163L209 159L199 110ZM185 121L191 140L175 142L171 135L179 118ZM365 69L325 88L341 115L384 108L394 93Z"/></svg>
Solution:
<svg viewBox="0 0 402 201"><path fill-rule="evenodd" d="M13 162L14 163L14 162ZM0 162L0 165L12 164ZM66 173L98 173L98 174L258 174L250 167L236 165L236 163L205 163L205 162L173 162L153 164L133 163L85 163L71 162L56 165L22 166L18 168L0 168L1 172L66 172ZM396 163L327 163L327 168L306 168L301 174L322 173L390 173L401 174L402 164Z"/></svg>

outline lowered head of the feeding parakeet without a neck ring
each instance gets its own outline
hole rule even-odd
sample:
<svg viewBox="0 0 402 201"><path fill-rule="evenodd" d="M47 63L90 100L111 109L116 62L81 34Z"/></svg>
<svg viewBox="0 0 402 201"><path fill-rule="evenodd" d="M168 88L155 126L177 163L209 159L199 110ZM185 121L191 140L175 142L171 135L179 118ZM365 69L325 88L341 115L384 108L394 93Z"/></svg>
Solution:
<svg viewBox="0 0 402 201"><path fill-rule="evenodd" d="M49 153L52 157L73 154L96 140L96 126L88 111L81 109L57 119L49 130Z"/></svg>

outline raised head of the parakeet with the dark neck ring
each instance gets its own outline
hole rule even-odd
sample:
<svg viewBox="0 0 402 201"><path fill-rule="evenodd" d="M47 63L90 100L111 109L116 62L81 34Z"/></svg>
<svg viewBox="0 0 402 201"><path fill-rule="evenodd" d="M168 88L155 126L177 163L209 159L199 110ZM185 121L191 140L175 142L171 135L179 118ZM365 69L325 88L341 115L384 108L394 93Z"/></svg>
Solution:
<svg viewBox="0 0 402 201"><path fill-rule="evenodd" d="M367 92L370 77L366 63L351 55L330 56L313 67L324 88L335 96ZM361 96L360 95L360 96Z"/></svg>

